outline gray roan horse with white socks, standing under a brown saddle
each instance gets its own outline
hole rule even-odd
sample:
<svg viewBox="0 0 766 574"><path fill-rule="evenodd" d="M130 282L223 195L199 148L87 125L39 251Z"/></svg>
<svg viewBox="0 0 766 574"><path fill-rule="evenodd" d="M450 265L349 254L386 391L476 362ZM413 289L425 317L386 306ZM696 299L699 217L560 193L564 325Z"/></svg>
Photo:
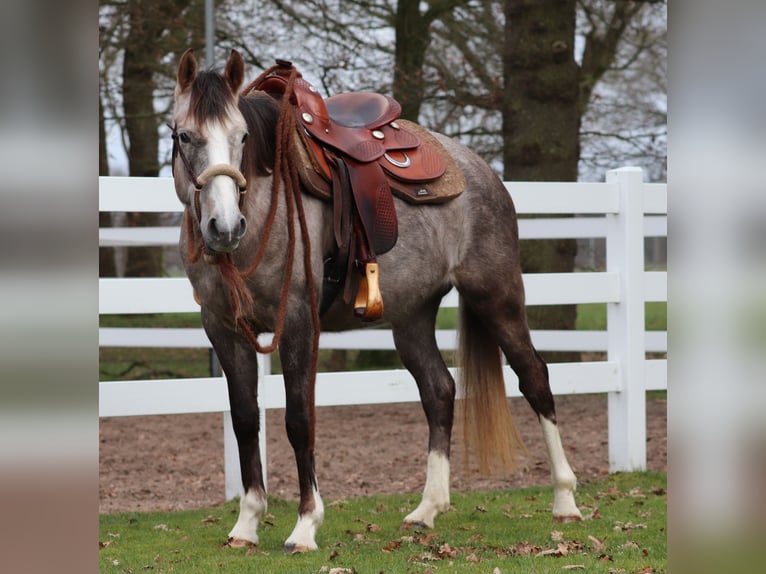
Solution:
<svg viewBox="0 0 766 574"><path fill-rule="evenodd" d="M172 126L175 188L186 206L180 249L205 331L226 374L239 447L244 494L229 544L257 544L258 524L266 514L254 336L274 333L272 347L278 342L284 370L287 436L300 485L298 521L285 550L305 552L317 549L315 536L324 519L314 468L318 323L328 331L363 323L344 297L319 317L324 258L334 240L332 204L283 193L285 177L274 169L280 110L287 106L263 92L240 96L243 81L244 62L236 51L223 74L200 71L191 50L180 61ZM505 396L502 351L540 421L554 518L579 520L576 479L561 444L548 370L527 326L513 203L483 160L449 138L436 138L459 166L465 189L439 205L395 199L398 241L378 258L385 312L372 322L390 325L428 421L423 497L403 526L432 528L450 504L456 386L434 330L439 303L452 287L460 296L458 372L466 397L458 403L466 403L471 452L481 466L508 468L518 446Z"/></svg>

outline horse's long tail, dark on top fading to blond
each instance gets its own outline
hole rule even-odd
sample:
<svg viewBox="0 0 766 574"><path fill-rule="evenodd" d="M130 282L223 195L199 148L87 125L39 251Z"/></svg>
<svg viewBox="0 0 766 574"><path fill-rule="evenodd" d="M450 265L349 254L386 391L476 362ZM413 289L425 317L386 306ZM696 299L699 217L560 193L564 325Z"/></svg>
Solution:
<svg viewBox="0 0 766 574"><path fill-rule="evenodd" d="M475 455L482 474L513 471L525 448L508 406L500 349L462 298L458 367L463 393L458 410L466 466Z"/></svg>

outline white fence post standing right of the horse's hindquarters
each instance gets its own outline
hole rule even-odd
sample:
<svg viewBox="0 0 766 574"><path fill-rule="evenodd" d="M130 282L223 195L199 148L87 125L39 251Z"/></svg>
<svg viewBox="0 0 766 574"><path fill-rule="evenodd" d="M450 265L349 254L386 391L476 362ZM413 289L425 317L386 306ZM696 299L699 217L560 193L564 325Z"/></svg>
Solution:
<svg viewBox="0 0 766 574"><path fill-rule="evenodd" d="M607 214L606 268L620 277L620 301L607 303L607 348L620 370L621 391L609 393L609 471L646 469L643 172L608 171L619 212Z"/></svg>

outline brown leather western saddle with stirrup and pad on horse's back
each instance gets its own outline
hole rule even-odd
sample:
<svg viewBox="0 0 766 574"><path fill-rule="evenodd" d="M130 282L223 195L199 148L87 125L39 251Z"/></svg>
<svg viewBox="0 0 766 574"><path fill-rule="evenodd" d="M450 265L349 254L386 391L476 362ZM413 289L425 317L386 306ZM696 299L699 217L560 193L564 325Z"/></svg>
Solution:
<svg viewBox="0 0 766 574"><path fill-rule="evenodd" d="M354 313L374 321L383 314L377 256L398 236L392 192L411 203L441 203L459 195L465 181L436 138L399 119L393 98L351 92L322 99L299 73L288 86L292 70L292 63L277 60L242 95L257 90L282 99L290 89L298 175L307 191L333 204L335 249L325 259L320 314L341 287L350 302L358 276Z"/></svg>

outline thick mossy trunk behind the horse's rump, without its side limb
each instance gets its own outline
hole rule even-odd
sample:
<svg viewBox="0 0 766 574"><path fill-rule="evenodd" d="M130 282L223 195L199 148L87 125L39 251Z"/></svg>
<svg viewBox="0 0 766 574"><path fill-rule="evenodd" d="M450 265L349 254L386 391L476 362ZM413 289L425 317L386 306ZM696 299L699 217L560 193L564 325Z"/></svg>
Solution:
<svg viewBox="0 0 766 574"><path fill-rule="evenodd" d="M580 157L575 0L507 0L503 75L504 178L576 181ZM525 273L574 270L575 240L525 241ZM574 329L574 305L530 307L533 329ZM578 353L546 353L552 362Z"/></svg>

